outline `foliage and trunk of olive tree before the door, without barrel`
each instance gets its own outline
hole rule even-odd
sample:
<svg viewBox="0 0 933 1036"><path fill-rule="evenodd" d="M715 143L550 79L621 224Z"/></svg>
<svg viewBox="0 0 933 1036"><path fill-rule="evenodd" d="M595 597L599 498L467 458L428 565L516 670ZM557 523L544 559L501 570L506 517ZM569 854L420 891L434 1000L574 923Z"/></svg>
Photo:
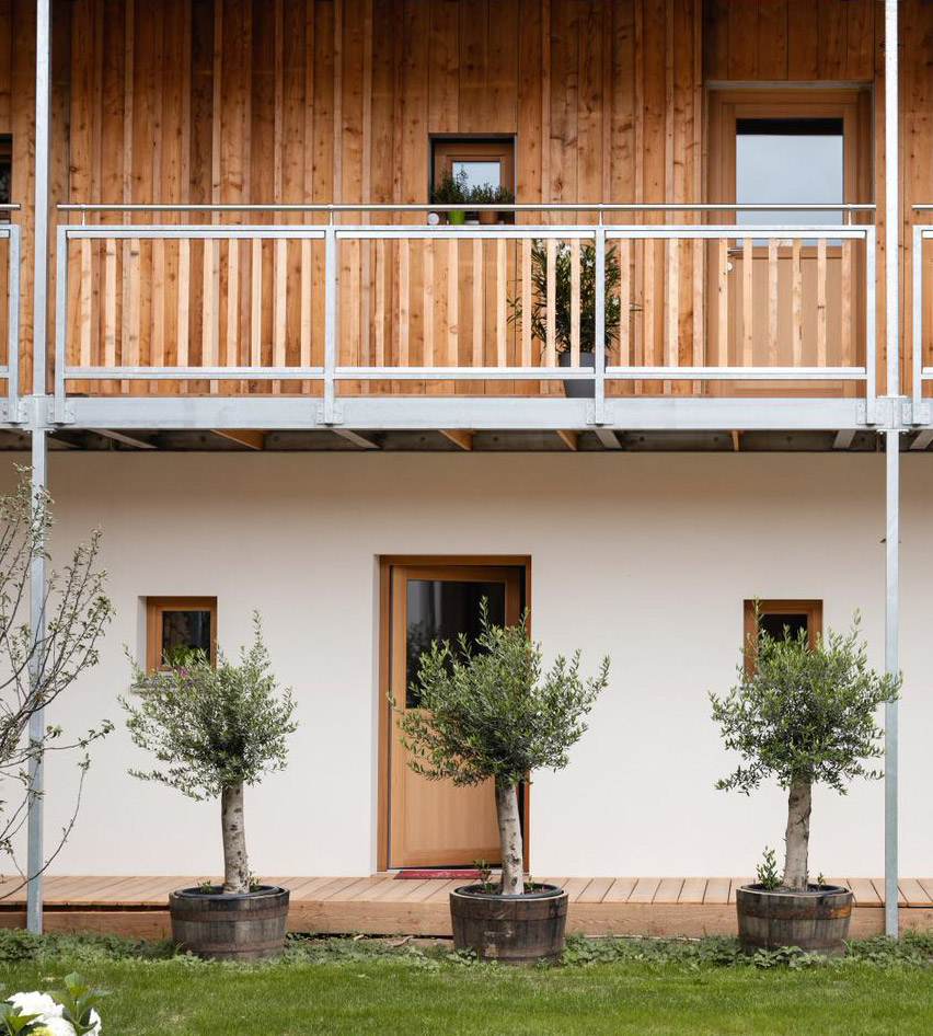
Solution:
<svg viewBox="0 0 933 1036"><path fill-rule="evenodd" d="M523 889L518 786L534 770L567 764L586 730L583 717L608 681L609 658L590 680L581 679L579 665L576 652L544 674L527 615L516 626L493 625L483 600L475 644L465 636L456 647L434 641L421 656L419 707L399 713L416 773L458 786L494 782L505 895Z"/></svg>

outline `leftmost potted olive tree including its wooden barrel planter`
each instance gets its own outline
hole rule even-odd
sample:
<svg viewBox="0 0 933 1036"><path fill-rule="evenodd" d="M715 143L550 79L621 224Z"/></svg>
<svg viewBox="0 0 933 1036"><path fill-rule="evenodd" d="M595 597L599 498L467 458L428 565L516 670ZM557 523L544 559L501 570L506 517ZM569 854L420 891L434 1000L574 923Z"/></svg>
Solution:
<svg viewBox="0 0 933 1036"><path fill-rule="evenodd" d="M150 674L134 663L138 702L120 698L134 744L162 764L129 772L196 801L220 798L222 885L169 897L173 939L203 957L270 957L285 943L289 893L250 874L243 788L285 767L295 705L290 691L278 693L258 614L253 621L253 644L242 648L240 665L219 647L216 666L203 651L176 653L168 668Z"/></svg>

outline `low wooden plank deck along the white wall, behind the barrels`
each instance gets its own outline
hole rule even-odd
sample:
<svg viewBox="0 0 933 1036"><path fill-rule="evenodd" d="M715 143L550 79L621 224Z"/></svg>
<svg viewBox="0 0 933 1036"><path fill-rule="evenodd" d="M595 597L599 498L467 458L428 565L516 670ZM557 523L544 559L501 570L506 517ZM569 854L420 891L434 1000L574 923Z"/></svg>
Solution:
<svg viewBox="0 0 933 1036"><path fill-rule="evenodd" d="M163 876L50 876L45 879L45 928L142 937L169 934L166 897L200 878ZM448 894L462 885L438 879L268 877L291 889L291 931L372 935L449 935ZM571 897L568 930L590 935L704 935L735 932L735 891L749 878L548 877ZM855 894L852 934L884 931L884 882L841 878ZM15 886L0 879L0 896ZM933 878L902 878L901 930L933 929ZM25 923L24 894L0 899L0 926Z"/></svg>

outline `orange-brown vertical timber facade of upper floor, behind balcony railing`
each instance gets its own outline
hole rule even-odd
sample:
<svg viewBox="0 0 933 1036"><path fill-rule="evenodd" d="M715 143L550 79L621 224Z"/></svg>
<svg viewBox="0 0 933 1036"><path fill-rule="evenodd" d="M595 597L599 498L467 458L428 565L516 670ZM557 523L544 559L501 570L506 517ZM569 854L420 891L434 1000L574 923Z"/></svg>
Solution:
<svg viewBox="0 0 933 1036"><path fill-rule="evenodd" d="M915 221L912 206L933 199L933 72L928 58L933 5L905 0L901 18L901 210L907 230ZM867 99L872 153L868 182L857 200L880 202L883 28L883 5L873 0L56 0L53 200L425 204L434 135L507 135L515 139L520 203L698 204L710 200L707 113L713 91L758 85L776 94L787 84L831 84L861 90ZM24 226L21 343L26 383L34 31L33 4L0 0L0 136L12 137L12 199L23 206L14 218ZM275 223L326 221L322 214L268 218ZM148 216L100 219L150 221ZM204 219L172 214L159 221ZM400 222L415 217L341 219ZM522 215L519 223L532 219L539 217ZM567 222L571 217L545 214L540 219ZM614 219L700 221L690 212ZM588 225L595 217L584 212L574 221ZM882 269L880 206L874 222ZM576 251L578 242L568 239L568 246ZM748 242L744 246L751 248ZM719 248L726 248L725 239ZM512 296L527 297L528 249L503 241L459 248L445 241L343 242L341 362L505 366L527 361L532 352L538 362L538 354L548 354L551 343L542 350L532 348L521 325L508 319ZM901 306L908 315L909 234L903 252ZM620 290L630 292L623 298L620 350L630 350L622 355L623 365L626 358L657 366L722 365L757 356L749 331L732 343L726 331L716 332L711 323L711 292L717 289L712 270L718 258L696 241L620 244L619 262L627 267ZM774 273L762 276L776 286L776 245L769 260ZM69 361L319 365L323 262L322 243L311 240L81 242L69 253ZM837 316L853 312L851 296L857 287L852 287L851 270L860 260L855 255L849 262L855 265L850 266L848 288L844 273L841 287L833 287L834 275L823 266L817 289L822 293L814 302L822 313L815 326L820 319L826 322L827 306L834 304L840 291L840 310L830 312L830 326ZM745 290L749 301L742 306L750 307L750 275ZM753 290L760 293L758 287ZM879 287L879 327L883 295ZM772 329L763 332L770 334L764 362L778 354L773 329L779 306L797 303L788 295L762 316ZM902 325L909 350L910 320ZM848 355L831 342L827 352L826 337L815 342L796 353L794 361L832 366L856 361L855 353L864 350L864 342L850 343ZM553 354L540 361L550 364ZM884 391L883 334L878 377ZM312 384L273 383L272 389L308 391ZM450 383L427 384L429 391L451 391ZM70 388L127 391L120 382ZM371 382L348 391L425 388L425 382ZM615 385L613 391L692 393L696 388L668 380L644 388L635 383L634 390ZM239 392L268 385L137 387L145 392L185 389ZM519 390L491 381L458 391ZM552 382L541 391L561 390Z"/></svg>

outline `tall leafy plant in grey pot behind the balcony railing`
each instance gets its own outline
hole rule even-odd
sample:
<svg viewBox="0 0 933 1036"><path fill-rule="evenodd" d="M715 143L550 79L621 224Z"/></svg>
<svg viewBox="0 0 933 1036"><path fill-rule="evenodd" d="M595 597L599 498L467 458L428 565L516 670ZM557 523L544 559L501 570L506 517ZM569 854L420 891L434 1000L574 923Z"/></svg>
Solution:
<svg viewBox="0 0 933 1036"><path fill-rule="evenodd" d="M606 348L607 352L619 339L622 320L622 300L617 289L622 272L617 260L617 248L606 250ZM531 249L531 336L542 347L548 341L548 246L535 241ZM580 244L580 367L596 367L596 245L584 241ZM510 320L520 322L521 299L510 299ZM557 364L569 367L573 362L573 252L566 241L556 242L554 250L554 341ZM567 380L564 392L568 399L592 399L595 382Z"/></svg>

